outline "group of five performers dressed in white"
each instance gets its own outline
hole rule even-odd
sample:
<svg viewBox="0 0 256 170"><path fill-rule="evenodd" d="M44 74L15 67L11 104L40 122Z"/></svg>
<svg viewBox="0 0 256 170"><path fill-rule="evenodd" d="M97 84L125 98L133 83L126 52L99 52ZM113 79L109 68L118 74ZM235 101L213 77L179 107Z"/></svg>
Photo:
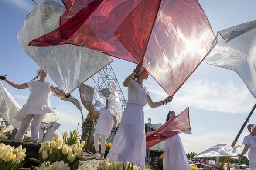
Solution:
<svg viewBox="0 0 256 170"><path fill-rule="evenodd" d="M50 107L49 96L53 93L58 98L69 97L70 93L59 93L51 82L47 82L48 70L38 69L36 71L39 80L34 78L30 82L17 84L10 81L5 76L0 76L9 85L17 89L29 88L31 94L28 97L26 105L15 115L15 119L21 121L20 127L15 135L15 140L21 141L27 129L31 128L31 142L38 142L38 131L41 129L41 122L56 122L58 113ZM114 161L123 161L123 163L133 163L137 167L145 169L146 156L146 135L144 131L144 112L143 107L148 104L151 108L160 107L172 101L173 96L158 102L153 102L143 81L147 80L149 74L147 70L137 65L136 69L125 79L123 86L128 88L128 101L123 116L119 124L118 131L113 140L113 144L106 158L113 157ZM94 132L94 146L96 153L92 158L104 159L106 150L106 138L109 137L112 124L116 118L110 113L108 101L106 107L96 111L92 105L92 111L95 116L99 116L96 130ZM175 112L170 111L166 121L175 118ZM31 124L31 125L30 125ZM249 167L256 164L256 125L249 124L250 134L245 137L243 143L245 149L238 156L243 156L249 150ZM190 130L189 130L190 132ZM102 144L101 154L99 155L99 138ZM42 139L40 138L41 142ZM44 140L45 141L45 140ZM164 144L164 170L190 170L187 156L182 146L179 135L167 138Z"/></svg>

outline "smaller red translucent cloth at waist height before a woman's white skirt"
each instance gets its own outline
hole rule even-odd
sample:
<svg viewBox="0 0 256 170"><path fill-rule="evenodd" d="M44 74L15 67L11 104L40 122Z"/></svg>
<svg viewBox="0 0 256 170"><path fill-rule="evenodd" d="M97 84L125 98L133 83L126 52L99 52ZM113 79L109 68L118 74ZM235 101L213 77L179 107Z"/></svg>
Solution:
<svg viewBox="0 0 256 170"><path fill-rule="evenodd" d="M174 119L167 121L163 126L157 129L157 131L146 132L147 148L152 147L169 137L187 131L190 128L189 111L188 108L186 108Z"/></svg>

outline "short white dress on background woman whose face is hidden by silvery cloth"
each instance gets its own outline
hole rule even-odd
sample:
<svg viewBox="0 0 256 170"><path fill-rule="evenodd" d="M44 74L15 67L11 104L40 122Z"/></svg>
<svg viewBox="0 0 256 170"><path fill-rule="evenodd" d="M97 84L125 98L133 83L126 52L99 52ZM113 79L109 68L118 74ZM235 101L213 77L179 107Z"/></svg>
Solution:
<svg viewBox="0 0 256 170"><path fill-rule="evenodd" d="M100 108L99 109L99 119L96 125L96 129L93 133L93 136L100 134L106 137L109 137L113 125L113 117L109 108Z"/></svg>

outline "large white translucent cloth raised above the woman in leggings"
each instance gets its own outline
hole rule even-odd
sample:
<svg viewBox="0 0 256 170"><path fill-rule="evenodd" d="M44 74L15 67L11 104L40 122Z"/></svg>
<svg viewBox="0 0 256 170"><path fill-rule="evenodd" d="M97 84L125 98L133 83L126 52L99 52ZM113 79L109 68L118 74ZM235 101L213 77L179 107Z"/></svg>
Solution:
<svg viewBox="0 0 256 170"><path fill-rule="evenodd" d="M65 8L54 0L40 0L26 17L17 34L18 41L28 56L65 92L72 92L80 84L113 60L92 49L65 44L52 47L31 47L28 43L59 26L59 17Z"/></svg>

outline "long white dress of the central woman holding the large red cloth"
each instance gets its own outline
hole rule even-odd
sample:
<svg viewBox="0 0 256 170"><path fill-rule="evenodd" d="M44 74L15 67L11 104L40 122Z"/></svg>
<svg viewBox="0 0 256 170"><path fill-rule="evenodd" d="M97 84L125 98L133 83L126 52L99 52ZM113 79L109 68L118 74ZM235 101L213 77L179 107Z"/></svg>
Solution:
<svg viewBox="0 0 256 170"><path fill-rule="evenodd" d="M127 106L106 158L113 157L115 162L130 162L144 170L146 135L143 106L147 104L149 92L138 82L131 82L132 85L128 87Z"/></svg>

